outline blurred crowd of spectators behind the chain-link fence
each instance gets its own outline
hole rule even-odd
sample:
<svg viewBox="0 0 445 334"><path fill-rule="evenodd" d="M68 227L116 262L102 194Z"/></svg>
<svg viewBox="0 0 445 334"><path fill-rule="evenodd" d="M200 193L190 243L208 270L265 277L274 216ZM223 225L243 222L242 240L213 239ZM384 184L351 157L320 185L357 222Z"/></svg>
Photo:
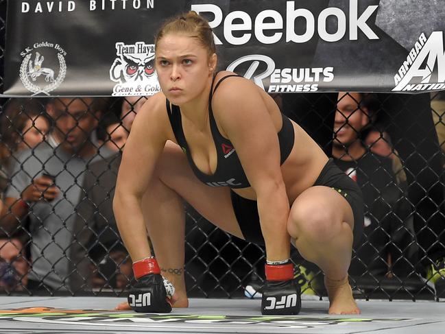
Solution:
<svg viewBox="0 0 445 334"><path fill-rule="evenodd" d="M429 117L434 120L436 141L442 150L444 95L429 97ZM287 108L280 96L275 98ZM11 98L3 104L0 290L76 293L128 286L131 260L119 237L112 198L125 141L146 99ZM424 237L427 241L423 244L418 240L418 231L429 223L423 220L419 229L418 222L426 214L417 213L420 200L413 200L411 193L410 180L417 175L409 174L406 167L410 157L401 146L402 137L390 135L392 130L382 116L385 103L370 93L341 92L335 99L334 108L326 110L326 115L333 110L335 115L331 115L333 124L324 129L330 128L329 152L324 147L325 152L359 184L365 200L365 233L354 250L350 275L364 280L368 276L416 276L434 285L441 279L440 265L445 267L445 246L440 241L444 233L435 230L435 240L440 241L437 252L424 246L431 243L431 237ZM298 110L285 111L290 116L295 112ZM414 152L422 150L422 143L409 145ZM440 149L436 147L442 169L444 154ZM435 182L440 183L443 198L441 180L440 173ZM433 211L442 215L437 205ZM193 239L193 232L189 238ZM202 243L198 239L190 240L189 245L197 245L193 252ZM251 272L261 277L263 262L258 257L263 252L260 248L245 250L243 257L252 264ZM432 257L433 251L438 255ZM432 259L433 264L424 264L425 259ZM296 278L304 276L306 293L314 294L317 282L308 274L309 268L298 255L294 261L298 263Z"/></svg>

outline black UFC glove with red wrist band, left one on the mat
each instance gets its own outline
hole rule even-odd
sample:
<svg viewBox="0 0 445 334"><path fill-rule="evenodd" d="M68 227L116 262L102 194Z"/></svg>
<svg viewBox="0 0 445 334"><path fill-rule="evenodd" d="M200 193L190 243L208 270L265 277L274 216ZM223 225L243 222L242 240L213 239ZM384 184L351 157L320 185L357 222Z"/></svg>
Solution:
<svg viewBox="0 0 445 334"><path fill-rule="evenodd" d="M138 283L128 294L128 304L132 310L143 313L171 312L158 261L154 258L136 261L133 263L133 272Z"/></svg>

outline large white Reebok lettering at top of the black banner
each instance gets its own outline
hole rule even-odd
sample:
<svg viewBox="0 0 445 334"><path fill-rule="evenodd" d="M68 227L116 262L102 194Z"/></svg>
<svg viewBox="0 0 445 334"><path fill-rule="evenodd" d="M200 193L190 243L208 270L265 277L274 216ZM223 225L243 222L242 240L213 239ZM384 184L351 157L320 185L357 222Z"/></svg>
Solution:
<svg viewBox="0 0 445 334"><path fill-rule="evenodd" d="M322 10L317 17L310 10L300 8L300 1L279 1L281 8L276 8L278 11L272 9L262 10L256 16L241 10L223 12L227 7L226 5L219 7L219 5L214 4L221 1L209 1L213 3L200 2L204 3L191 5L191 10L194 10L197 14L203 12L206 14L210 13L209 16L214 18L208 22L211 28L223 26L223 29L221 29L222 34L217 36L215 32L213 33L216 45L226 43L230 45L244 45L251 38L255 38L258 42L265 45L279 42L306 43L314 36L320 36L326 42L337 42L344 36L348 36L349 40L357 40L359 32L370 40L378 39L376 33L368 25L368 20L376 12L378 5L368 5L365 8L363 5L365 1L361 1L360 6L359 0L348 1L350 5L347 11L336 7L328 7ZM270 2L272 3L272 1ZM278 1L275 2L278 3ZM364 11L359 12L359 8L360 10L364 8ZM338 22L335 32L326 29L326 22L332 16ZM296 32L296 21L306 23L306 27L301 29L304 32L303 34ZM271 33L271 30L273 30L273 33Z"/></svg>

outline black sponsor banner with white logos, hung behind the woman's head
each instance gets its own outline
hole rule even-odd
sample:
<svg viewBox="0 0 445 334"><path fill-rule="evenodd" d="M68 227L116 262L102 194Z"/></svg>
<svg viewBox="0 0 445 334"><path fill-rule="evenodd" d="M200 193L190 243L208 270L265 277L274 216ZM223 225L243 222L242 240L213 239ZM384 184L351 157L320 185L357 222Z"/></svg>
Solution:
<svg viewBox="0 0 445 334"><path fill-rule="evenodd" d="M15 0L3 95L152 95L154 35L189 10L213 28L219 70L268 93L445 89L442 1Z"/></svg>

